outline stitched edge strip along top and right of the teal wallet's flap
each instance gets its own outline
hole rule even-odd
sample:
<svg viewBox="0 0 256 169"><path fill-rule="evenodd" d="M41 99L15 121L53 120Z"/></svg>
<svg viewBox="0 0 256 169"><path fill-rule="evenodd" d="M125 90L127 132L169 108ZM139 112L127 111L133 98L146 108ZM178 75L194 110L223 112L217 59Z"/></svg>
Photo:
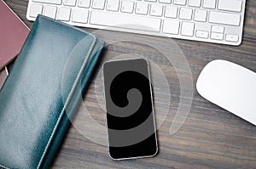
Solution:
<svg viewBox="0 0 256 169"><path fill-rule="evenodd" d="M41 16L44 17L43 15L41 15ZM52 19L50 19L50 18L48 18L48 17L44 17L44 18L47 19L47 20L52 20ZM86 60L87 60L86 58L88 58L88 56L89 56L89 54L91 53L92 48L94 47L95 42L96 42L96 37L93 36L92 34L90 34L89 32L79 30L79 29L76 28L76 27L73 27L73 26L71 26L71 25L67 25L67 24L64 24L64 23L61 23L61 22L57 22L57 21L55 21L55 20L52 20L52 21L54 21L54 22L57 23L57 24L66 25L66 26L68 26L68 27L70 27L70 28L72 28L72 29L74 29L74 30L84 32L86 35L90 35L91 37L93 37L93 42L91 43L90 48L89 48L89 51L88 51L88 53L86 54L86 56L85 56L85 58L84 58L84 62L83 62L83 64L82 64L81 67L80 67L79 73L78 73L78 75L76 76L75 81L73 82L73 87L71 88L71 91L70 91L70 93L69 93L68 96L67 96L67 100L65 101L65 104L64 104L64 106L63 106L63 108L62 108L62 110L61 110L61 115L58 117L58 120L57 120L56 123L55 123L55 127L54 127L53 131L52 131L51 134L50 134L49 140L48 140L48 142L47 142L47 144L46 144L46 146L45 146L45 148L44 148L43 155L41 156L40 161L38 162L37 168L39 168L39 166L41 165L41 163L42 163L42 161L43 161L43 159L44 159L44 155L45 155L45 153L46 153L46 150L47 150L48 147L49 147L49 143L50 143L50 141L52 140L52 137L53 137L53 135L55 134L55 130L56 130L56 128L57 128L57 126L58 126L58 124L59 124L59 122L60 122L60 120L61 120L61 116L63 115L63 112L64 112L65 108L67 107L67 101L70 99L71 93L73 93L74 87L76 86L76 84L77 84L77 82L78 82L79 76L82 74L82 70L83 70L84 65L85 65L85 63L86 63Z"/></svg>

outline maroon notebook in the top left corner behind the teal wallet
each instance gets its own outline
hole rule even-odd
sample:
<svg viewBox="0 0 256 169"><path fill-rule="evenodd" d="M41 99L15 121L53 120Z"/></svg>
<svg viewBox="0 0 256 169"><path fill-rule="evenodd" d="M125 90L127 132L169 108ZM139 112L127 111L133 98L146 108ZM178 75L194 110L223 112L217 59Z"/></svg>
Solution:
<svg viewBox="0 0 256 169"><path fill-rule="evenodd" d="M0 0L0 70L20 53L28 33L29 28Z"/></svg>

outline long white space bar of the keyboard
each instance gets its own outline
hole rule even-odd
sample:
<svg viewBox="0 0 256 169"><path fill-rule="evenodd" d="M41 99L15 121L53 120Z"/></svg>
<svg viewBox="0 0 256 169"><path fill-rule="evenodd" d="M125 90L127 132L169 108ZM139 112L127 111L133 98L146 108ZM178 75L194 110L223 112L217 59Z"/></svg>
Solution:
<svg viewBox="0 0 256 169"><path fill-rule="evenodd" d="M157 18L148 18L143 15L105 13L101 11L91 11L90 15L90 24L92 25L107 25L144 31L160 31L161 20Z"/></svg>

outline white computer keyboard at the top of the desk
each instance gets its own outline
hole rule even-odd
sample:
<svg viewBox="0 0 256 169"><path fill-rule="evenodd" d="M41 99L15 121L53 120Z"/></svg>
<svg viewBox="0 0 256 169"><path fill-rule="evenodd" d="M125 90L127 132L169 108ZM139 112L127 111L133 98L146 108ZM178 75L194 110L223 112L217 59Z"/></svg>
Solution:
<svg viewBox="0 0 256 169"><path fill-rule="evenodd" d="M29 0L26 17L70 25L239 45L246 0Z"/></svg>

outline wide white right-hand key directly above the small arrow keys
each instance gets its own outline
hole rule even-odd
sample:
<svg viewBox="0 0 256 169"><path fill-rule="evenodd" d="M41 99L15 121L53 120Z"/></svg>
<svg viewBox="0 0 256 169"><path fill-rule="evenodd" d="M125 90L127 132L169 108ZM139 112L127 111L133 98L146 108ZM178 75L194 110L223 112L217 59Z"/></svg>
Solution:
<svg viewBox="0 0 256 169"><path fill-rule="evenodd" d="M240 14L210 12L209 22L224 25L240 25Z"/></svg>

